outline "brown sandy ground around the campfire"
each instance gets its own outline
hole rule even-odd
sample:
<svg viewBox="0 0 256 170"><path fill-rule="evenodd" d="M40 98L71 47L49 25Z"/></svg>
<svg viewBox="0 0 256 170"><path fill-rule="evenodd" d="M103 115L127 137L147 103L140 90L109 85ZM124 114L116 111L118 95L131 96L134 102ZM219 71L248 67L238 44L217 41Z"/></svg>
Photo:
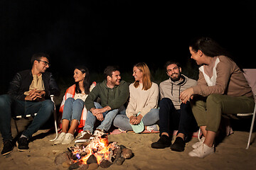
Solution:
<svg viewBox="0 0 256 170"><path fill-rule="evenodd" d="M29 120L19 120L19 130L24 130ZM16 129L12 121L13 136ZM245 149L249 132L235 131L233 135L225 137L216 147L215 154L204 159L189 157L191 145L197 142L193 137L186 144L184 152L173 152L171 149L152 149L151 143L159 139L158 133L134 134L127 132L118 135L109 135L110 142L118 142L132 149L134 157L125 160L122 166L112 165L108 169L256 169L256 142L252 142L249 149ZM255 139L256 132L252 134ZM55 156L67 150L70 145L53 145L49 140L55 137L54 132L39 130L33 135L29 143L30 149L18 152L14 147L11 154L0 156L0 169L64 169L54 164ZM2 149L3 143L0 142ZM99 168L102 169L102 168Z"/></svg>

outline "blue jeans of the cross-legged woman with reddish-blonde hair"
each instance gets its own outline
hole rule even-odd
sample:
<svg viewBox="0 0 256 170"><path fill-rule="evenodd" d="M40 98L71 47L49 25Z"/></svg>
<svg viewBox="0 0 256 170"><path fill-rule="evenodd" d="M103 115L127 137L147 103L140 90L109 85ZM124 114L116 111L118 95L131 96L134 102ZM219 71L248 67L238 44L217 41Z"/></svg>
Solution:
<svg viewBox="0 0 256 170"><path fill-rule="evenodd" d="M142 122L144 125L154 125L159 120L159 109L158 108L151 108L149 113L146 113L144 115ZM120 114L117 115L116 118L114 118L114 126L117 128L120 128L122 130L132 130L131 124L129 124L129 118L127 115Z"/></svg>

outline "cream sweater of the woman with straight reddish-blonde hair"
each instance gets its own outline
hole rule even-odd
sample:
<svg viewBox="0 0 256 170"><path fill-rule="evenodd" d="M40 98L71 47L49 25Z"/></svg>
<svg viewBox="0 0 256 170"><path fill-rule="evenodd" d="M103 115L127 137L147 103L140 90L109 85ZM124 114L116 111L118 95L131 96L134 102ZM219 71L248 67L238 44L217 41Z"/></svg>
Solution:
<svg viewBox="0 0 256 170"><path fill-rule="evenodd" d="M157 107L159 99L159 86L157 84L152 82L151 88L146 91L142 90L142 84L139 84L137 88L134 87L134 84L130 84L129 93L129 103L126 110L128 118L139 112L144 116L151 108Z"/></svg>

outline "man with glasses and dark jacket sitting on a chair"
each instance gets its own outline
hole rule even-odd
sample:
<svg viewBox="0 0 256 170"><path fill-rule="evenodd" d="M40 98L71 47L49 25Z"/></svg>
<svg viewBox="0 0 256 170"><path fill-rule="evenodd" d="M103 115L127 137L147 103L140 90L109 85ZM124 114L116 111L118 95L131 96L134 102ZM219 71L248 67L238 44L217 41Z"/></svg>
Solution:
<svg viewBox="0 0 256 170"><path fill-rule="evenodd" d="M1 154L4 156L14 149L11 135L11 117L37 113L31 125L18 138L18 151L25 151L28 139L46 123L53 113L54 104L50 95L58 96L60 90L50 72L49 56L37 53L31 57L32 69L16 73L7 94L0 96L0 131L4 141Z"/></svg>

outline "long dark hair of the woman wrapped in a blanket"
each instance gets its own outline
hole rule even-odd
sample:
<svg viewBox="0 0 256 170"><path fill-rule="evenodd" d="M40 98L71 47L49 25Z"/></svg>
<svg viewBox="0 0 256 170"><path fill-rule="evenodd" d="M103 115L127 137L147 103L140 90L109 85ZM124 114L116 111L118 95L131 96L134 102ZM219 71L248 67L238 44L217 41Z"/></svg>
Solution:
<svg viewBox="0 0 256 170"><path fill-rule="evenodd" d="M85 87L85 94L89 94L90 93L90 85L91 85L89 70L87 69L87 67L82 66L82 65L75 67L75 69L79 69L82 72L82 74L85 73L85 79L83 81L83 86ZM78 82L75 82L75 93L77 93L77 94L82 93L82 91L79 88Z"/></svg>

